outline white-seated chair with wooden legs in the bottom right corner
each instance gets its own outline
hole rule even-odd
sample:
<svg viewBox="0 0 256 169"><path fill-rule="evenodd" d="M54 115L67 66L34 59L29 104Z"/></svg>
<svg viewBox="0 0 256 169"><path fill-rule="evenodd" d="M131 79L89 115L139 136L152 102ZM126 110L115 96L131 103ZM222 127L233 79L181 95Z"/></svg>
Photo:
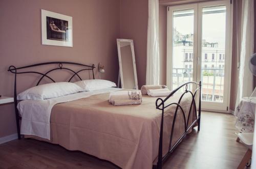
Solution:
<svg viewBox="0 0 256 169"><path fill-rule="evenodd" d="M251 150L252 150L252 143L253 143L253 133L238 133L237 142L242 142L247 148L247 152L245 153L242 161L238 165L238 169L243 169L245 166L250 165L251 159ZM249 163L249 165L247 165Z"/></svg>

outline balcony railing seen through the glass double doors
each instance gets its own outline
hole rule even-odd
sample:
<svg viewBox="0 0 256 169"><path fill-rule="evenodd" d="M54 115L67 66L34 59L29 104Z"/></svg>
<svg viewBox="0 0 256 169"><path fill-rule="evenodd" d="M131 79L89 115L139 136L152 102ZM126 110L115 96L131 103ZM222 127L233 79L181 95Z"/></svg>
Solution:
<svg viewBox="0 0 256 169"><path fill-rule="evenodd" d="M195 80L195 79L194 79ZM223 101L224 69L222 68L202 68L202 100L203 101ZM182 83L193 81L193 69L174 68L173 69L173 89ZM188 86L189 89L192 86Z"/></svg>

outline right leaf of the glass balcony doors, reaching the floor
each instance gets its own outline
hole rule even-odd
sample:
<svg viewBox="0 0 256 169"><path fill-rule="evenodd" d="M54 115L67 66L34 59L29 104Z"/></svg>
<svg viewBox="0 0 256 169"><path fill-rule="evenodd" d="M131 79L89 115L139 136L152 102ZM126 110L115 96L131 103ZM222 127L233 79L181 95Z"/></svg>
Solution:
<svg viewBox="0 0 256 169"><path fill-rule="evenodd" d="M231 77L230 1L198 4L197 79L202 81L202 108L228 110Z"/></svg>

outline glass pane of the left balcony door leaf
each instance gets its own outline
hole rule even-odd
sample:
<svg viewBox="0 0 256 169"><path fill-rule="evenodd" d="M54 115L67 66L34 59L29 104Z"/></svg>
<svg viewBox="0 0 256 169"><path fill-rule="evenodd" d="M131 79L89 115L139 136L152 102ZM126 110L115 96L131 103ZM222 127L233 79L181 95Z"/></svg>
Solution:
<svg viewBox="0 0 256 169"><path fill-rule="evenodd" d="M173 82L176 89L193 81L194 9L173 13ZM191 90L191 85L188 87Z"/></svg>

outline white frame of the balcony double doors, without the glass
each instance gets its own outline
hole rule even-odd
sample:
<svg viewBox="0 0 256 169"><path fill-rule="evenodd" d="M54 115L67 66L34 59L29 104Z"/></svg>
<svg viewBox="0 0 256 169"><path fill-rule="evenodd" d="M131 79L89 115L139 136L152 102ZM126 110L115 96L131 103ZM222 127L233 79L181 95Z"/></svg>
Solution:
<svg viewBox="0 0 256 169"><path fill-rule="evenodd" d="M187 4L187 5L178 5L178 6L171 6L167 7L167 62L166 62L166 85L169 89L172 89L172 74L173 74L173 59L172 59L172 53L173 53L173 30L169 29L170 27L173 27L173 12L176 10L185 10L185 9L195 9L194 13L194 56L193 57L193 69L196 71L196 73L193 73L193 81L200 81L201 80L201 61L202 59L205 60L204 55L202 56L201 48L202 48L202 42L200 39L202 39L202 29L200 27L202 26L202 15L198 15L202 13L202 8L204 6L219 6L219 5L226 5L226 42L225 42L225 60L224 64L226 63L227 66L225 66L225 83L224 83L224 94L225 97L223 97L223 104L220 104L218 102L210 102L211 105L203 106L204 104L207 104L207 102L204 102L202 104L202 109L204 110L216 110L221 112L229 112L228 107L230 104L230 85L231 85L231 61L232 61L232 16L233 16L233 4L230 4L229 0L221 0L221 1L210 1L210 2L202 2L202 3L195 3L195 4ZM199 27L200 26L200 27ZM199 27L199 29L198 29ZM203 53L205 54L205 53ZM207 60L208 60L208 53L207 54ZM223 55L223 54L222 54ZM203 57L203 58L202 58ZM216 56L217 57L217 56Z"/></svg>

